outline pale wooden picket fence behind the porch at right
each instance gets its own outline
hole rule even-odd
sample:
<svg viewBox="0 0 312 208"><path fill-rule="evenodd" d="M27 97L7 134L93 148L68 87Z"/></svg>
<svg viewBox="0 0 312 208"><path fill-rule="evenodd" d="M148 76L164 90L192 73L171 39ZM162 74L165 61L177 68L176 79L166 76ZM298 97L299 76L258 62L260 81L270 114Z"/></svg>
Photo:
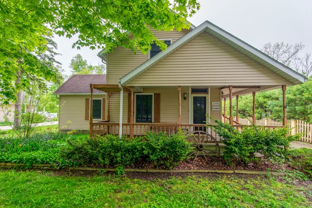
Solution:
<svg viewBox="0 0 312 208"><path fill-rule="evenodd" d="M252 125L253 118L239 118L238 122L242 125ZM274 121L269 118L263 118L261 120L256 120L257 126L283 126L281 122ZM289 120L288 128L291 129L291 134L302 133L302 137L299 139L303 142L312 143L312 124L304 122L302 120Z"/></svg>

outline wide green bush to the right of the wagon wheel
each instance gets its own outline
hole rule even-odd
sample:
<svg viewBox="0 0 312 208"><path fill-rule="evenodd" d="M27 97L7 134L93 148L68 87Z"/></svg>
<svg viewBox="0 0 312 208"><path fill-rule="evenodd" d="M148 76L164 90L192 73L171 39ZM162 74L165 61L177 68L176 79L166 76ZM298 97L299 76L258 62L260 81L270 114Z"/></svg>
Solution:
<svg viewBox="0 0 312 208"><path fill-rule="evenodd" d="M237 156L245 163L256 161L256 152L259 152L263 160L274 161L284 159L288 154L288 148L292 141L299 135L287 136L286 128L266 129L259 126L245 126L242 131L236 130L229 124L215 120L213 129L221 141L226 145L224 158L230 163Z"/></svg>

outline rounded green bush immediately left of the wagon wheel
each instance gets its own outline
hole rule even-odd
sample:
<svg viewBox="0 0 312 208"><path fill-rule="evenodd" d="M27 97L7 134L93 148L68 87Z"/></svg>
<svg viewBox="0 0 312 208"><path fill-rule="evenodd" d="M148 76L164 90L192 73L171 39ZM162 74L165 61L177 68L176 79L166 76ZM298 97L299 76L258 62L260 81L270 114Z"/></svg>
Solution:
<svg viewBox="0 0 312 208"><path fill-rule="evenodd" d="M145 134L145 139L147 142L144 145L144 153L148 160L153 161L157 167L164 165L171 169L186 159L192 151L182 131L171 136L168 136L166 132L148 132Z"/></svg>

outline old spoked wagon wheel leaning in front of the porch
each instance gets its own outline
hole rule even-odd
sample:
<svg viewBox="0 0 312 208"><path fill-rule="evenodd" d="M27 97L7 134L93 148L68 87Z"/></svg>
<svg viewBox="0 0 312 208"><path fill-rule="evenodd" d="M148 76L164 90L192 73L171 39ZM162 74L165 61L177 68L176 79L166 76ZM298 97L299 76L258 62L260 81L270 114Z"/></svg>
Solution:
<svg viewBox="0 0 312 208"><path fill-rule="evenodd" d="M197 156L203 156L207 163L214 164L219 158L220 149L215 137L204 131L193 131L186 134L186 140L192 142L191 147L194 151L189 154L193 162Z"/></svg>

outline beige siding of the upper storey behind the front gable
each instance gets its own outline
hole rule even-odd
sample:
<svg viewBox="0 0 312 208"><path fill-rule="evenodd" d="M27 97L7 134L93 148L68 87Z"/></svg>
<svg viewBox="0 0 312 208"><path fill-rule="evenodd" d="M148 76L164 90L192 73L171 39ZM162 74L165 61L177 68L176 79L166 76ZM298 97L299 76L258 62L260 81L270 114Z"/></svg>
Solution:
<svg viewBox="0 0 312 208"><path fill-rule="evenodd" d="M178 32L173 30L171 32L156 31L152 29L152 32L158 39L172 40L175 42L178 38L181 38L189 32L189 30L182 30ZM148 60L148 54L142 54L138 51L134 54L130 49L117 47L114 52L107 55L107 84L117 84L117 79L125 76L139 65Z"/></svg>

